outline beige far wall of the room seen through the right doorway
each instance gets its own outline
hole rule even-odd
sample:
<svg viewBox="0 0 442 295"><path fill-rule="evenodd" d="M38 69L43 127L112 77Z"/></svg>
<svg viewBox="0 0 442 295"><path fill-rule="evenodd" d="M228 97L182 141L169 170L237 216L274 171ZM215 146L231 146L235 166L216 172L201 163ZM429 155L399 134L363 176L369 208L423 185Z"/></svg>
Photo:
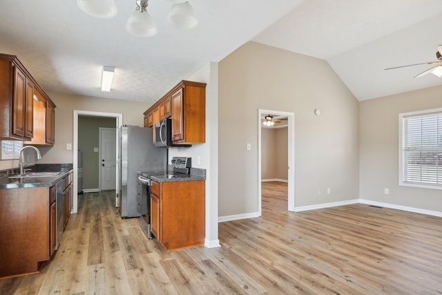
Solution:
<svg viewBox="0 0 442 295"><path fill-rule="evenodd" d="M288 130L261 128L261 179L287 180Z"/></svg>

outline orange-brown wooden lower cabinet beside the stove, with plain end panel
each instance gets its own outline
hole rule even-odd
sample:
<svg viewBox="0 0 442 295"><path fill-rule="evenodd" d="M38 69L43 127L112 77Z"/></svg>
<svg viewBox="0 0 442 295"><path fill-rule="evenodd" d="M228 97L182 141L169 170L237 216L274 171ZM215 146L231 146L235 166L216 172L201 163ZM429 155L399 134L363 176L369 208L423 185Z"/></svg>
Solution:
<svg viewBox="0 0 442 295"><path fill-rule="evenodd" d="M168 250L203 245L204 180L151 182L151 231Z"/></svg>

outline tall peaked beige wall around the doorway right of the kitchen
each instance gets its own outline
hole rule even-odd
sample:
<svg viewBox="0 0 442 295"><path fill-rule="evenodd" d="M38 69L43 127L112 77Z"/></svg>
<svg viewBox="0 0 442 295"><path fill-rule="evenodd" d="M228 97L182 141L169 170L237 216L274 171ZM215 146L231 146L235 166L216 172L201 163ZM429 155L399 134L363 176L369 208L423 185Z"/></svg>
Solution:
<svg viewBox="0 0 442 295"><path fill-rule="evenodd" d="M358 101L326 61L244 44L220 61L218 106L220 216L258 212L258 109L295 114L296 207L358 198Z"/></svg>

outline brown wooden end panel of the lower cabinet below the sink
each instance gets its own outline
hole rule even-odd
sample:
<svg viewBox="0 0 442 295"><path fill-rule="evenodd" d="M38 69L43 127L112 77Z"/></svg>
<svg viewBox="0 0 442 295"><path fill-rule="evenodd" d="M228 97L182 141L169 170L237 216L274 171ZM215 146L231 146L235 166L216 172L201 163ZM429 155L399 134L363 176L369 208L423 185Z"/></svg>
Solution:
<svg viewBox="0 0 442 295"><path fill-rule="evenodd" d="M0 189L0 278L39 272L50 258L49 187Z"/></svg>

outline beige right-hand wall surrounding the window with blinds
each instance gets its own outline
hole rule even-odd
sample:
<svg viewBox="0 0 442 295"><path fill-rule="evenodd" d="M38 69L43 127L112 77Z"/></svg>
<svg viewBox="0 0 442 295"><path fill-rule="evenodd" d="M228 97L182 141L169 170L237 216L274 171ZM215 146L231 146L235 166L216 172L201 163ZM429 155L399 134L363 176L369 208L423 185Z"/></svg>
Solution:
<svg viewBox="0 0 442 295"><path fill-rule="evenodd" d="M361 199L442 211L440 190L398 185L399 113L441 108L441 93L439 86L360 103Z"/></svg>

